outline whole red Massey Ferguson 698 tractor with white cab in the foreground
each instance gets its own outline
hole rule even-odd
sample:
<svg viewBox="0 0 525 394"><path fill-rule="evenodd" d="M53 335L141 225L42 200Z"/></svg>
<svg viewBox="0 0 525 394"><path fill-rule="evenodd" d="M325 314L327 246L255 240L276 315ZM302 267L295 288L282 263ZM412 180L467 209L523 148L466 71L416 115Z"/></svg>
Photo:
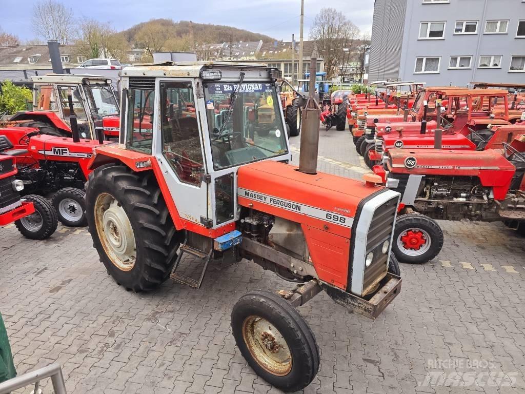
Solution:
<svg viewBox="0 0 525 394"><path fill-rule="evenodd" d="M316 173L319 111L308 107L312 98L303 110L299 171L290 165L279 78L280 71L261 64L125 69L123 132L119 144L94 149L86 214L108 273L136 292L170 277L198 288L211 260L243 257L304 283L278 294L245 294L232 310L233 335L249 365L272 385L295 391L312 381L320 362L295 306L323 289L374 317L399 294L390 258L399 194L376 186L376 175L359 182ZM154 97L150 134L135 123L143 96ZM184 113L167 99L178 97L195 111ZM257 114L247 115L261 101L279 116L265 123L266 132L250 133L263 127ZM225 102L226 113L216 116ZM305 161L310 157L313 165ZM184 254L194 257L198 276L180 272Z"/></svg>

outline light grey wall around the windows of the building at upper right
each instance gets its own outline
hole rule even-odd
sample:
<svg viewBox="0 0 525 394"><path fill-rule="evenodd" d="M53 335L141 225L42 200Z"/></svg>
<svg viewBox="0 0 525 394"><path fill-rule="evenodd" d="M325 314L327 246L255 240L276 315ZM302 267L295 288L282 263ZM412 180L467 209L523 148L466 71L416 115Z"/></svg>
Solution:
<svg viewBox="0 0 525 394"><path fill-rule="evenodd" d="M511 56L525 56L525 39L516 38L518 21L525 19L521 0L449 0L423 4L408 0L401 49L400 78L421 80L428 86L465 86L472 81L525 83L524 72L509 72ZM484 34L487 20L508 20L506 34ZM477 33L454 34L457 20L477 20ZM444 39L418 39L421 22L446 22ZM374 19L375 22L375 19ZM502 56L500 68L478 68L480 56ZM416 57L440 56L438 74L416 74ZM449 69L450 56L472 56L470 68Z"/></svg>

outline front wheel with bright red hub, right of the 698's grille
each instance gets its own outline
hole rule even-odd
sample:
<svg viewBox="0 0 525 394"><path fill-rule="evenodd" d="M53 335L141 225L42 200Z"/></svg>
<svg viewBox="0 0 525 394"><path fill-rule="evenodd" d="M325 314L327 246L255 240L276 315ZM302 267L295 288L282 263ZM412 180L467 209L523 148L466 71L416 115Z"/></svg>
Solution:
<svg viewBox="0 0 525 394"><path fill-rule="evenodd" d="M443 231L430 217L407 213L397 217L392 252L402 263L421 264L436 257L443 247Z"/></svg>

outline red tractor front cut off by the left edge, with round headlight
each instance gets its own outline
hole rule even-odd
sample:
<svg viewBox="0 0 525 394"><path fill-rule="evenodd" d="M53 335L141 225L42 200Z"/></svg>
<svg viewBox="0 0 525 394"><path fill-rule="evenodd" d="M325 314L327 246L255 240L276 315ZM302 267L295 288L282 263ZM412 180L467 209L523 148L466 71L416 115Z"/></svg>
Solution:
<svg viewBox="0 0 525 394"><path fill-rule="evenodd" d="M31 240L45 240L57 229L57 214L53 205L39 195L26 195L20 199L24 182L16 179L16 156L23 149L13 149L4 136L0 136L0 226L15 223L22 235Z"/></svg>

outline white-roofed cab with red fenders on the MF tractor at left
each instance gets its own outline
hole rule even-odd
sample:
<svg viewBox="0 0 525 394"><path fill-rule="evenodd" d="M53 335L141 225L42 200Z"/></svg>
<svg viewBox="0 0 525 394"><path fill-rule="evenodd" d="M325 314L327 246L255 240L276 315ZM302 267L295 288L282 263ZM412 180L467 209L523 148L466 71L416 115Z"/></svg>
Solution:
<svg viewBox="0 0 525 394"><path fill-rule="evenodd" d="M17 126L35 126L43 133L70 136L70 116L75 115L81 138L96 139L96 126L103 126L108 138L118 138L120 109L111 79L65 74L31 78L34 86L33 110L18 112L10 122ZM68 94L74 113L71 113ZM48 129L51 132L47 132Z"/></svg>

